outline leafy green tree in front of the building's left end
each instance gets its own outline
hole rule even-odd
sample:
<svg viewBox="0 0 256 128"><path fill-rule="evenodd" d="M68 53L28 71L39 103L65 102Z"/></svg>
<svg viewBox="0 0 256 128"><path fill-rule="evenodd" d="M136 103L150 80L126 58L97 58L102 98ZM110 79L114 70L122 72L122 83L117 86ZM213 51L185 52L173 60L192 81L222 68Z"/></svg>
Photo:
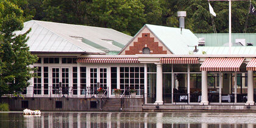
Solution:
<svg viewBox="0 0 256 128"><path fill-rule="evenodd" d="M10 1L0 1L0 96L22 91L29 85L28 80L34 75L30 68L37 61L30 54L26 44L28 30L16 35L16 30L23 29L23 10Z"/></svg>

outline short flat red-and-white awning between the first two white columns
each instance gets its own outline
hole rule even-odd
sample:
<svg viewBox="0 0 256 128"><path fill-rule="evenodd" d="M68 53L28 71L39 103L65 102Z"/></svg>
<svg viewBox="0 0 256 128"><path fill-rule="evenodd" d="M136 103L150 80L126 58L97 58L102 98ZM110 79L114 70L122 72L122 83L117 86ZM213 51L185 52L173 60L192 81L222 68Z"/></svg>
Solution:
<svg viewBox="0 0 256 128"><path fill-rule="evenodd" d="M199 62L198 58L161 58L160 63L186 64Z"/></svg>

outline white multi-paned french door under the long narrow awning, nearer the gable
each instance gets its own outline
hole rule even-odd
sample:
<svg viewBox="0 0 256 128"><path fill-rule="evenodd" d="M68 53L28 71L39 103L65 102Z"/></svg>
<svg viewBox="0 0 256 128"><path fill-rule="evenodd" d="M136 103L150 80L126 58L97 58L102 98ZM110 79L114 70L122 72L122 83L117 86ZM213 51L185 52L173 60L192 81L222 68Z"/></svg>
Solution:
<svg viewBox="0 0 256 128"><path fill-rule="evenodd" d="M91 93L97 94L98 88L103 88L104 90L107 90L107 68L93 67L89 70Z"/></svg>

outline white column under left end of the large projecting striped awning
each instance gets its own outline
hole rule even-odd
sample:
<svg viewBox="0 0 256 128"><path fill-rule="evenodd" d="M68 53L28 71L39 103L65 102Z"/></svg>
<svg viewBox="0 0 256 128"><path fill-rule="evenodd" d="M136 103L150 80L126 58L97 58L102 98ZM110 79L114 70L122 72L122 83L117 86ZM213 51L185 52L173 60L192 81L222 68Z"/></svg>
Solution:
<svg viewBox="0 0 256 128"><path fill-rule="evenodd" d="M202 71L202 101L200 105L208 105L207 71Z"/></svg>

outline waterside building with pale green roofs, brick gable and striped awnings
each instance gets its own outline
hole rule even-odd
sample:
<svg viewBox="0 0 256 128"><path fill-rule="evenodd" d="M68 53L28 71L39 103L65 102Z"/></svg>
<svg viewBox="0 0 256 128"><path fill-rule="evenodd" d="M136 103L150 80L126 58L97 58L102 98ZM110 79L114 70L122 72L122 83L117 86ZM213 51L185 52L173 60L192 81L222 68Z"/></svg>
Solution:
<svg viewBox="0 0 256 128"><path fill-rule="evenodd" d="M234 34L229 54L225 34L151 24L130 37L113 29L32 20L17 34L29 28L27 44L38 55L32 66L39 77L30 80L25 98L110 99L120 89L119 98L135 90L133 99L149 105L255 104L255 34Z"/></svg>

